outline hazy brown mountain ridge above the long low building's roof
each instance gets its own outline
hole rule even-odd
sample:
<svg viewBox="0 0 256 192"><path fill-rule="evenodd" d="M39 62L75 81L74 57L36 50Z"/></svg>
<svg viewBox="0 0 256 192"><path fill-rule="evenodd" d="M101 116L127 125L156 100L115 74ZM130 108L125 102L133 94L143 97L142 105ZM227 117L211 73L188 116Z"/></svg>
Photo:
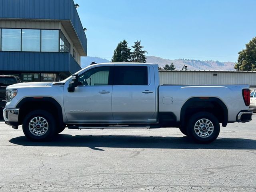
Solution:
<svg viewBox="0 0 256 192"><path fill-rule="evenodd" d="M200 61L189 59L176 59L169 60L155 56L147 56L148 63L158 64L160 67L164 67L166 64L173 63L176 70L181 70L184 65L188 66L188 70L235 70L234 62L220 62L220 61Z"/></svg>

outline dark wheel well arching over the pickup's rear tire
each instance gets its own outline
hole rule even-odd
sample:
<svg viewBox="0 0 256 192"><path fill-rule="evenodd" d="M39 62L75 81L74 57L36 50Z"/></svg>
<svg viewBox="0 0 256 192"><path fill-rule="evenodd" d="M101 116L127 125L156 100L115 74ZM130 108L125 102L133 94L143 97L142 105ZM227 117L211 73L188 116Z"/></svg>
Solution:
<svg viewBox="0 0 256 192"><path fill-rule="evenodd" d="M198 112L213 114L224 127L228 124L228 109L220 99L191 98L182 107L180 115L181 126L186 126L190 116Z"/></svg>

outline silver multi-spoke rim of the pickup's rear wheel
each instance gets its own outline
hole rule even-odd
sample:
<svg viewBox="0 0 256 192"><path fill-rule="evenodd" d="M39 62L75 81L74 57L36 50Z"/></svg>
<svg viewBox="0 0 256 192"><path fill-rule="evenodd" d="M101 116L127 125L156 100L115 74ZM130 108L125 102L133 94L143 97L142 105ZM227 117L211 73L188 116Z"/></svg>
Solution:
<svg viewBox="0 0 256 192"><path fill-rule="evenodd" d="M200 119L194 126L194 131L201 138L208 138L214 131L213 123L208 119Z"/></svg>

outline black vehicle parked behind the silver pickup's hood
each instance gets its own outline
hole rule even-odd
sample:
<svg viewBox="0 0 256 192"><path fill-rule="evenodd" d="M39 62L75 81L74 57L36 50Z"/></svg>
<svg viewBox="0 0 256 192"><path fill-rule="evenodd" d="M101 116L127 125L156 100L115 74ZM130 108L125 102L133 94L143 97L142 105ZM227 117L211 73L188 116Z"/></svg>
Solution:
<svg viewBox="0 0 256 192"><path fill-rule="evenodd" d="M6 87L12 84L22 83L18 76L14 75L0 75L0 108L1 110L5 107L6 102Z"/></svg>

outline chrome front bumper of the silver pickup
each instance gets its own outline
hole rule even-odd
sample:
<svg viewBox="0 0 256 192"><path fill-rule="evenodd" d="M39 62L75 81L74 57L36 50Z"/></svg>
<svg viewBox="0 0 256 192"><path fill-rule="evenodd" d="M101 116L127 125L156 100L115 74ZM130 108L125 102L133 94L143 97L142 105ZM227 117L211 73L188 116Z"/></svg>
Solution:
<svg viewBox="0 0 256 192"><path fill-rule="evenodd" d="M18 129L19 111L20 109L15 108L4 108L3 110L4 122L14 129Z"/></svg>

